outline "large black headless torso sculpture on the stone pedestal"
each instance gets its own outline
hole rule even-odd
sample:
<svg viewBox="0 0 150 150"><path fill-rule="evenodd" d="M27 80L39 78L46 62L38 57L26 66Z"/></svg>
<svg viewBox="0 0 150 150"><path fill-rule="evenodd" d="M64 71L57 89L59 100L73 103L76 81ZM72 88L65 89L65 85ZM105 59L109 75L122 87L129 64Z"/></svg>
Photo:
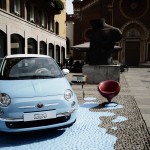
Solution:
<svg viewBox="0 0 150 150"><path fill-rule="evenodd" d="M89 65L111 65L112 53L117 41L122 38L118 28L105 23L105 19L91 20Z"/></svg>

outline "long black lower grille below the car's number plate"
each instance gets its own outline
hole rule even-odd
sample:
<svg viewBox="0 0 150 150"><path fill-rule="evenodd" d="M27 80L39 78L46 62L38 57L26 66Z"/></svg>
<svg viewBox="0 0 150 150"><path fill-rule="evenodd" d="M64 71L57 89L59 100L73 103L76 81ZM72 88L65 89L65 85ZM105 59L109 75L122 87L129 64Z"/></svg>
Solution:
<svg viewBox="0 0 150 150"><path fill-rule="evenodd" d="M39 126L48 126L58 123L66 122L70 119L70 116L63 116L54 119L46 119L46 120L36 120L36 121L18 121L18 122L6 122L6 126L11 129L17 128L32 128L32 127L39 127Z"/></svg>

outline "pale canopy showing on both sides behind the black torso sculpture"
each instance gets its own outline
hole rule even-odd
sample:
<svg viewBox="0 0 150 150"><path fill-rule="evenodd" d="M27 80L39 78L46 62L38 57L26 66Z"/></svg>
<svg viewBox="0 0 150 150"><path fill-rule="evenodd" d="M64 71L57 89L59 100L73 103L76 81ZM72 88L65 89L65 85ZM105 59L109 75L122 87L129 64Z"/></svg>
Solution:
<svg viewBox="0 0 150 150"><path fill-rule="evenodd" d="M90 48L90 42L85 42L83 44L72 46L71 49L77 52L87 52ZM114 46L114 52L120 51L122 48L118 45Z"/></svg>

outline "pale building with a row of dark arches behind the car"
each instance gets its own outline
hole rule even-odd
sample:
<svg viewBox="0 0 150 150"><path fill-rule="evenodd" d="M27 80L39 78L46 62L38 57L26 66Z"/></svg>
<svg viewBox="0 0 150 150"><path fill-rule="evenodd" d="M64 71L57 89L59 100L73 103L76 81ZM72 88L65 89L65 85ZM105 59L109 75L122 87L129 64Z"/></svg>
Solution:
<svg viewBox="0 0 150 150"><path fill-rule="evenodd" d="M1 0L0 57L44 54L64 63L65 0Z"/></svg>

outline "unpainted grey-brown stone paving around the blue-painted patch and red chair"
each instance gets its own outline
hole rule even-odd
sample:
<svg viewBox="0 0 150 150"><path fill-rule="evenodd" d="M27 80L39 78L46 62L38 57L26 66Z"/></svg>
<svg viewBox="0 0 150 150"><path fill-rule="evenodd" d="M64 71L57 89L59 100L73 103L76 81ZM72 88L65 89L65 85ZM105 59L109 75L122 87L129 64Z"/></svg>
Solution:
<svg viewBox="0 0 150 150"><path fill-rule="evenodd" d="M97 108L91 111L110 111L125 116L127 121L114 123L113 119L117 117L110 116L100 118L103 120L100 127L107 129L109 134L115 135L118 140L115 145L115 150L150 150L150 69L148 68L130 68L128 72L120 74L121 91L113 98L113 101L123 105L123 109L105 110L103 103L106 99L103 98L97 91L97 85L84 85L85 97L95 97L100 103ZM75 74L75 73L73 73ZM72 73L66 76L71 81ZM79 103L83 100L81 85L73 85ZM112 129L112 126L117 130ZM149 131L148 131L149 130Z"/></svg>

